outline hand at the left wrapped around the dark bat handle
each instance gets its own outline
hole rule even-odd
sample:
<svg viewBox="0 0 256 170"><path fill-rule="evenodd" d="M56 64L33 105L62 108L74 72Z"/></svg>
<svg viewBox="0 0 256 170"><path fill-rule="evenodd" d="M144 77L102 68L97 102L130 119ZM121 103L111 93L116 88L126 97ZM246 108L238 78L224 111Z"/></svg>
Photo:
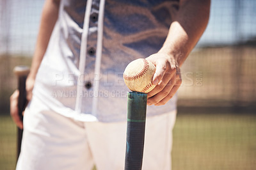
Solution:
<svg viewBox="0 0 256 170"><path fill-rule="evenodd" d="M35 80L30 79L28 77L28 79L26 80L26 98L27 98L28 102L32 98L32 90L34 88L34 84L35 84ZM19 116L19 108L18 108L18 102L19 101L18 100L19 100L19 90L16 89L13 92L12 96L10 97L10 114L12 116L12 119L13 119L14 123L17 125L17 127L22 129L23 128L23 123L20 120L20 116Z"/></svg>

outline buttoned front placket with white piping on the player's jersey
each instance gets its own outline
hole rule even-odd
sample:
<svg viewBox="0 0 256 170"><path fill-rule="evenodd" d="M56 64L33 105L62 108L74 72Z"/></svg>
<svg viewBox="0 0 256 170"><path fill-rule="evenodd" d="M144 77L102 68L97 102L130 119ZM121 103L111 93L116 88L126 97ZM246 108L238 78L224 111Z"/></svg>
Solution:
<svg viewBox="0 0 256 170"><path fill-rule="evenodd" d="M88 6L89 5L89 6ZM98 19L99 19L99 0L89 0L86 3L84 14L84 26L81 40L81 54L79 71L79 82L77 83L76 111L83 112L83 103L93 106L95 102L95 62L97 55L98 41ZM87 34L87 35L85 35ZM101 37L102 38L102 37ZM99 53L99 51L98 51ZM101 55L101 54L100 54ZM101 57L101 56L100 56ZM99 60L99 59L98 59ZM99 62L98 62L99 63ZM96 69L97 70L97 69ZM96 83L97 84L97 83ZM86 108L87 112L93 112L93 108Z"/></svg>

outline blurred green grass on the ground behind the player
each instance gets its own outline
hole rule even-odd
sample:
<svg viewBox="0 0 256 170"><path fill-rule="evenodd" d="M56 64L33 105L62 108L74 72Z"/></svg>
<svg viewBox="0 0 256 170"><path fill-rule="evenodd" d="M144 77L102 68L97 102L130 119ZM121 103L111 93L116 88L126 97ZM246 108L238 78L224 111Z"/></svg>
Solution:
<svg viewBox="0 0 256 170"><path fill-rule="evenodd" d="M0 169L15 168L16 128L0 116ZM180 112L173 130L174 170L256 168L256 115Z"/></svg>

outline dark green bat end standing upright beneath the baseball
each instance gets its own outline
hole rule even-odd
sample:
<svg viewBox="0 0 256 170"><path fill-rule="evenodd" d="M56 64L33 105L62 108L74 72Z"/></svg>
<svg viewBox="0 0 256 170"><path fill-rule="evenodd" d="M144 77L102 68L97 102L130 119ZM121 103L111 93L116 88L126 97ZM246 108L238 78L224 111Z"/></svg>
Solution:
<svg viewBox="0 0 256 170"><path fill-rule="evenodd" d="M128 92L127 98L125 170L139 170L143 160L147 94Z"/></svg>

